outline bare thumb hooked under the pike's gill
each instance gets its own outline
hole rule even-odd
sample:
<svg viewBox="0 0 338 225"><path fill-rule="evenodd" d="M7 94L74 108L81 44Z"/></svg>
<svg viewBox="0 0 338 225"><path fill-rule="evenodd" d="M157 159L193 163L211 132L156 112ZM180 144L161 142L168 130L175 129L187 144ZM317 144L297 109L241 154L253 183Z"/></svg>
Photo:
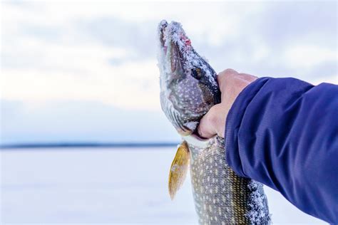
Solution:
<svg viewBox="0 0 338 225"><path fill-rule="evenodd" d="M217 117L215 117L216 108L217 105L212 106L207 114L200 120L200 125L198 125L198 135L200 135L200 137L210 138L217 135L215 129L215 122L217 122Z"/></svg>

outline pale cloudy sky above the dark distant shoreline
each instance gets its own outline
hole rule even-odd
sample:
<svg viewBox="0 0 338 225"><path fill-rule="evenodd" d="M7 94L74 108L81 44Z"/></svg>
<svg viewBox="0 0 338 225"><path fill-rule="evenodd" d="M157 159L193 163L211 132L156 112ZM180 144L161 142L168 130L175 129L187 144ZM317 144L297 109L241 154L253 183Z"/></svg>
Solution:
<svg viewBox="0 0 338 225"><path fill-rule="evenodd" d="M160 110L162 19L217 72L338 83L337 1L0 4L0 145L178 142Z"/></svg>

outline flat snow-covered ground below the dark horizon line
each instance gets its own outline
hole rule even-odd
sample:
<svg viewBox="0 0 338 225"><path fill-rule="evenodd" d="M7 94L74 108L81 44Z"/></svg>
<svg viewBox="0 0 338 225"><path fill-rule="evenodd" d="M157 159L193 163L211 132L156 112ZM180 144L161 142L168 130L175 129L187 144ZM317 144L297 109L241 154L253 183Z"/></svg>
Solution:
<svg viewBox="0 0 338 225"><path fill-rule="evenodd" d="M0 154L0 224L197 224L189 177L173 202L168 195L174 148ZM325 224L265 190L274 224Z"/></svg>

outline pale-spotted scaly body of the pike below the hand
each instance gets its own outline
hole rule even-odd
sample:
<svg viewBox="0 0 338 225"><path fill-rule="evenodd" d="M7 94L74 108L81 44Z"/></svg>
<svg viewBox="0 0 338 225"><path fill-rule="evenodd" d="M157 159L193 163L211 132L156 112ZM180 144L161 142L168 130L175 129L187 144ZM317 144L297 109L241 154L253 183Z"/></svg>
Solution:
<svg viewBox="0 0 338 225"><path fill-rule="evenodd" d="M225 160L223 145L224 140L220 137L215 137L207 147L203 148L188 142L192 158L190 174L193 197L200 218L199 223L250 224L251 221L247 215L250 211L248 205L252 191L248 189L248 184L253 181L238 177L230 169ZM255 192L265 199L262 185ZM268 215L267 211L266 214Z"/></svg>

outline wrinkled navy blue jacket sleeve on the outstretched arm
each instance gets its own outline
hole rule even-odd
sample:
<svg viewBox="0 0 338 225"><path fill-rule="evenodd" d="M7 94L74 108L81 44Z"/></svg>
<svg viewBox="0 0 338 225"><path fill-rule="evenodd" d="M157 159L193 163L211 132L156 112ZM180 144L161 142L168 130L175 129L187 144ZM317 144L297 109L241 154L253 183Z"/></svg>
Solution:
<svg viewBox="0 0 338 225"><path fill-rule="evenodd" d="M227 162L307 214L338 224L338 85L260 78L227 115Z"/></svg>

